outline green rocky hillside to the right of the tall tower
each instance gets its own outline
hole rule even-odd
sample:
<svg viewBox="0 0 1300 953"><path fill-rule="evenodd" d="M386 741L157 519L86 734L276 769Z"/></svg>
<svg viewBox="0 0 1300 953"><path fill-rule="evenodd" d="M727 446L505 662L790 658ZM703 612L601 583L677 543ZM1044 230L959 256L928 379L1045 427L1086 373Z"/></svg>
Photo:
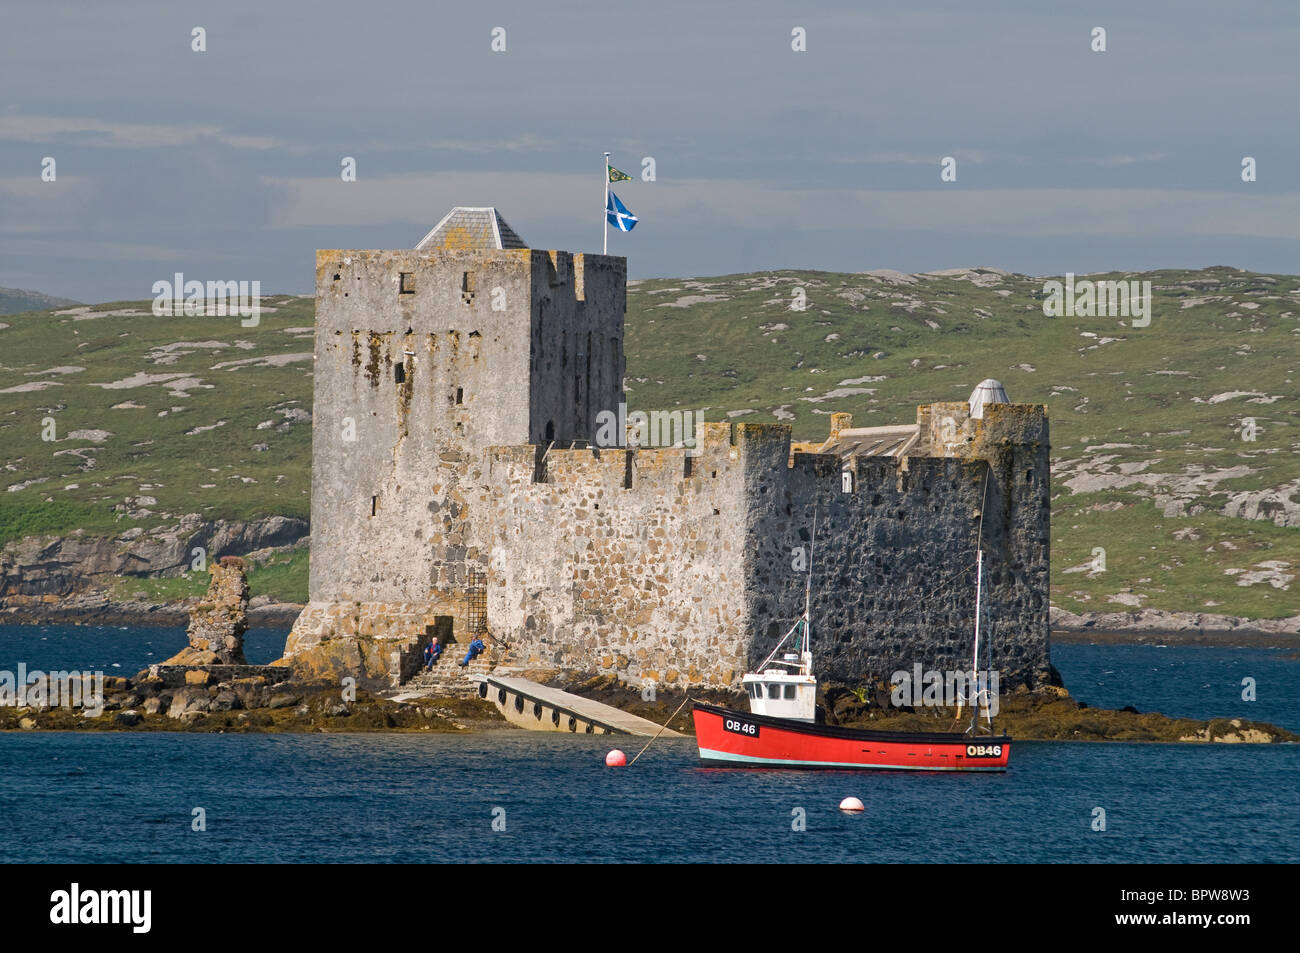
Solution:
<svg viewBox="0 0 1300 953"><path fill-rule="evenodd" d="M1048 404L1056 605L1300 611L1287 588L1300 566L1300 504L1288 502L1300 499L1300 280L1231 268L1093 277L1149 280L1150 325L1045 317L1043 280L994 269L638 282L629 407L786 420L815 438L832 410L859 426L910 423L918 403L965 399L996 377L1013 400Z"/></svg>

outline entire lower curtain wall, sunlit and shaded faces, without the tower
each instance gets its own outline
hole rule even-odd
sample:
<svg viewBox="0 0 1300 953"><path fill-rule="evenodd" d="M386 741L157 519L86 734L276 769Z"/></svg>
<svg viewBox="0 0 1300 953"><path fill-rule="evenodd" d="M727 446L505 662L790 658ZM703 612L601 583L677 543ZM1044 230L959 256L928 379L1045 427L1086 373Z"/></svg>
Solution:
<svg viewBox="0 0 1300 953"><path fill-rule="evenodd" d="M552 451L533 482L532 447L495 449L490 625L521 664L734 685L802 612L793 550L815 510L818 675L968 668L983 507L994 666L1004 686L1045 683L1045 416L970 424L961 456L862 458L849 491L835 456L786 467L775 424L707 425L689 476L681 450Z"/></svg>

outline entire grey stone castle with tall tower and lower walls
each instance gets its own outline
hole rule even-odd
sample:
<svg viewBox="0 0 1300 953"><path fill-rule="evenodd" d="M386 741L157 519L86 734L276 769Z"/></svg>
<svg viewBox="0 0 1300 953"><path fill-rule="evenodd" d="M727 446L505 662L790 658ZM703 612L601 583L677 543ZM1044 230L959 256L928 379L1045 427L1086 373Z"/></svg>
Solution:
<svg viewBox="0 0 1300 953"><path fill-rule="evenodd" d="M792 445L705 424L602 447L625 259L455 208L412 250L316 254L309 603L285 655L400 680L434 634L523 668L738 686L800 616L824 680L968 668L975 553L1004 685L1048 681L1046 412L996 382ZM608 419L608 415L604 417Z"/></svg>

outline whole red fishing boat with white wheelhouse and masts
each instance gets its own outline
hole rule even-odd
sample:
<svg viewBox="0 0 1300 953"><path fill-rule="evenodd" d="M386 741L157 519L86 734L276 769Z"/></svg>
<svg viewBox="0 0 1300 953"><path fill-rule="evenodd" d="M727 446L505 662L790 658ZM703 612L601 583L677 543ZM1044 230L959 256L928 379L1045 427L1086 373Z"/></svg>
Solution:
<svg viewBox="0 0 1300 953"><path fill-rule="evenodd" d="M814 524L814 536L816 528ZM975 653L979 660L979 607L983 553L976 559ZM776 768L884 768L897 771L1005 771L1011 738L993 733L987 688L971 699L971 725L965 732L890 732L841 728L816 723L816 677L812 675L812 566L803 615L785 633L758 671L745 675L749 711L696 702L696 741L699 761L711 766ZM788 651L776 658L794 636ZM972 679L972 685L979 685ZM979 728L984 694L987 728Z"/></svg>

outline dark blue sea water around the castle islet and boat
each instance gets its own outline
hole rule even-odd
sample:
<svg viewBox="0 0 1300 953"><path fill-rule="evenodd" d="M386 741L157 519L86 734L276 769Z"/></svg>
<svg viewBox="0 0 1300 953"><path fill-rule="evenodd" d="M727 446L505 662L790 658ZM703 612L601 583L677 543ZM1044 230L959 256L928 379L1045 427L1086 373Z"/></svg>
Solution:
<svg viewBox="0 0 1300 953"><path fill-rule="evenodd" d="M183 644L181 629L5 627L0 668L133 673ZM282 644L255 636L250 660ZM1093 706L1295 731L1292 654L1060 645L1053 660ZM1243 677L1258 701L1242 701ZM1019 741L1006 774L942 775L703 768L689 738L607 768L615 744L645 741L5 732L0 861L1300 861L1300 745ZM849 794L863 814L836 809Z"/></svg>

